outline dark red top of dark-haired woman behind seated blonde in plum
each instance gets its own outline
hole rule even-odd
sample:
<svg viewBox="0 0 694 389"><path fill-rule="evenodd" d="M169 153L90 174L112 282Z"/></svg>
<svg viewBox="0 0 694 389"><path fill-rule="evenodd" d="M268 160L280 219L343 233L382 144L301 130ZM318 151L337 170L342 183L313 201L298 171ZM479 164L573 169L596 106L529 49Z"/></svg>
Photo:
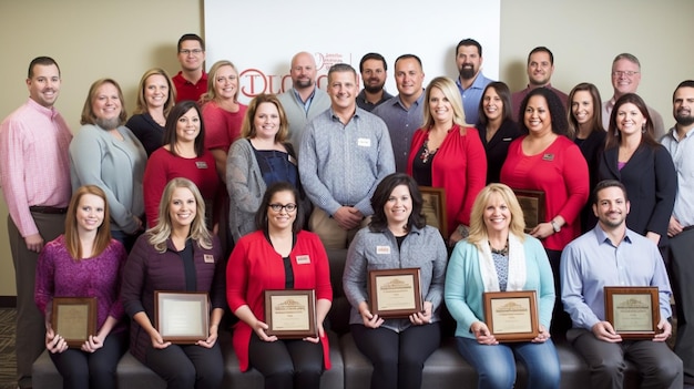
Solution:
<svg viewBox="0 0 694 389"><path fill-rule="evenodd" d="M206 151L196 158L175 156L164 147L157 149L144 170L144 212L147 225L156 225L159 217L159 203L166 184L176 177L191 180L200 190L203 198L211 205L220 186L220 176L214 163L214 156Z"/></svg>

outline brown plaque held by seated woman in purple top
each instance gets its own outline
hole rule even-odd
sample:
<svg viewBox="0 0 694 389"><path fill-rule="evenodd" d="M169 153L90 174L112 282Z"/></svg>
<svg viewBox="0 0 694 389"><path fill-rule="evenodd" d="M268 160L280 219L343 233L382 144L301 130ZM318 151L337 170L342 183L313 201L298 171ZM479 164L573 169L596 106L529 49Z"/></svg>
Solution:
<svg viewBox="0 0 694 389"><path fill-rule="evenodd" d="M51 326L68 347L82 347L96 334L96 297L54 297Z"/></svg>

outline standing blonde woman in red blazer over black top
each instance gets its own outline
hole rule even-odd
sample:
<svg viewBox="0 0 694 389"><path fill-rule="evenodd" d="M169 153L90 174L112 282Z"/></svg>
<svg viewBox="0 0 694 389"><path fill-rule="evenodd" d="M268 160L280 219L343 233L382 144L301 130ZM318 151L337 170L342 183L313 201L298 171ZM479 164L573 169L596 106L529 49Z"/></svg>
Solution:
<svg viewBox="0 0 694 389"><path fill-rule="evenodd" d="M446 190L448 242L453 245L467 236L472 203L487 180L487 156L477 130L466 124L451 79L431 80L425 101L425 123L412 136L407 173L419 185Z"/></svg>

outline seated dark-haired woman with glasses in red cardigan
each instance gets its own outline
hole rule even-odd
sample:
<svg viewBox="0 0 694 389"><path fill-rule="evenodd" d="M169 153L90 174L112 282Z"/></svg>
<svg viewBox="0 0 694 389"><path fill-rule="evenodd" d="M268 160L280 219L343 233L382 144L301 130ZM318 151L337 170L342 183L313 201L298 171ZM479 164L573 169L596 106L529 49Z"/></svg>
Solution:
<svg viewBox="0 0 694 389"><path fill-rule="evenodd" d="M241 320L234 329L239 368L255 368L265 388L315 388L330 368L328 339L323 328L333 301L328 258L317 235L302 231L304 209L296 187L271 185L255 216L257 231L242 237L226 267L226 299ZM264 291L314 289L315 337L278 339L268 336Z"/></svg>

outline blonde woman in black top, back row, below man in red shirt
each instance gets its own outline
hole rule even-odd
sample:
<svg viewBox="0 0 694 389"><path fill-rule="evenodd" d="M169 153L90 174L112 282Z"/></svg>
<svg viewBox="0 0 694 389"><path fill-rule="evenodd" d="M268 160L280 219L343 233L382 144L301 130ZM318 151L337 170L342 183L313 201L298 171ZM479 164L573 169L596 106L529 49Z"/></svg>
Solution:
<svg viewBox="0 0 694 389"><path fill-rule="evenodd" d="M153 68L142 74L135 112L125 126L137 136L147 156L162 146L166 116L175 101L176 90L165 70Z"/></svg>

